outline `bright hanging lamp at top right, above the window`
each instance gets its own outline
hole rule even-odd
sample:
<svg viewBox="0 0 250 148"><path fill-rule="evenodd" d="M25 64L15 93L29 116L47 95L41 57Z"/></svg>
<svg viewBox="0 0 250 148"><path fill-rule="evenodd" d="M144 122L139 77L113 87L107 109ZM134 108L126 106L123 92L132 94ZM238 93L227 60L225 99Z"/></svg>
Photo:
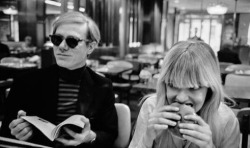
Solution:
<svg viewBox="0 0 250 148"><path fill-rule="evenodd" d="M222 4L214 4L207 7L207 12L211 15L223 15L227 13L227 7Z"/></svg>

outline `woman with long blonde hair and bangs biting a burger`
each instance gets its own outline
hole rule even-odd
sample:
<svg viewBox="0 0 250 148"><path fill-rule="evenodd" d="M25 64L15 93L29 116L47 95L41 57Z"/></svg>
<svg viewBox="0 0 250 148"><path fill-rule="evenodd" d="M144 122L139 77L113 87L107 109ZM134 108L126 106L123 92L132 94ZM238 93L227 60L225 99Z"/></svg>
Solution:
<svg viewBox="0 0 250 148"><path fill-rule="evenodd" d="M239 123L225 97L211 47L201 41L176 43L164 59L156 95L142 105L129 148L239 147ZM184 117L192 123L179 123L176 103L194 109ZM183 138L171 132L175 126Z"/></svg>

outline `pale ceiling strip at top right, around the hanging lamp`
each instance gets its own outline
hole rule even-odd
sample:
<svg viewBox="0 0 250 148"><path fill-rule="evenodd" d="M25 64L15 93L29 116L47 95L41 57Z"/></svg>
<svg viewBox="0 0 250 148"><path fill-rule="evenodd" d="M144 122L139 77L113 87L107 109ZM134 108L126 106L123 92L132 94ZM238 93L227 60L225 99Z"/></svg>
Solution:
<svg viewBox="0 0 250 148"><path fill-rule="evenodd" d="M250 13L250 0L168 0L170 10L177 8L182 11L206 11L208 5L223 3L228 7L227 13L233 13L237 1L237 13Z"/></svg>

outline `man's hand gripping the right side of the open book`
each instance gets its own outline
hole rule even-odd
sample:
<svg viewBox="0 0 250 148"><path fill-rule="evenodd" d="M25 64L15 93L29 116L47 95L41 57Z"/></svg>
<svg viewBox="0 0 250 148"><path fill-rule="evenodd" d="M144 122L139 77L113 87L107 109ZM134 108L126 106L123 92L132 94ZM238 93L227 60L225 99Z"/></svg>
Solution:
<svg viewBox="0 0 250 148"><path fill-rule="evenodd" d="M70 137L72 137L72 139L59 137L56 140L61 142L65 146L77 146L81 143L90 143L93 139L96 138L96 134L90 129L90 122L88 118L83 117L81 120L85 123L85 126L81 133L76 133L65 127L64 130Z"/></svg>

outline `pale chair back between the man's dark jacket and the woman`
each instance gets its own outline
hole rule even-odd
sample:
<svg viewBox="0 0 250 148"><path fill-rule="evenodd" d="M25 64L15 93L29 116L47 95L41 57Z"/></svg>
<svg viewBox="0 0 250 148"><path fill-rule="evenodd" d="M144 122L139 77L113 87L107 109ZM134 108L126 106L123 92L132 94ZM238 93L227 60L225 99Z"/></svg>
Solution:
<svg viewBox="0 0 250 148"><path fill-rule="evenodd" d="M115 103L115 108L118 116L118 137L114 148L127 148L131 133L131 112L126 104Z"/></svg>

